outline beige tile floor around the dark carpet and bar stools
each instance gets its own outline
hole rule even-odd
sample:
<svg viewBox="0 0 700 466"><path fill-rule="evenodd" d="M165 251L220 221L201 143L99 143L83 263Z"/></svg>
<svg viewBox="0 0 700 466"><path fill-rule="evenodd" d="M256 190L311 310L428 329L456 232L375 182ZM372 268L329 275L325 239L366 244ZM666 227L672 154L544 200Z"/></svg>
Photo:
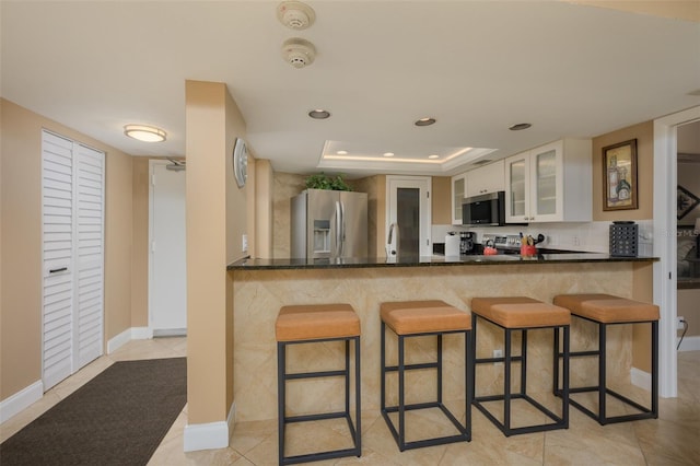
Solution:
<svg viewBox="0 0 700 466"><path fill-rule="evenodd" d="M42 400L7 421L0 441L22 429L115 361L173 358L186 353L185 338L136 340L89 364L46 393ZM700 351L678 354L678 398L660 401L660 418L606 427L571 409L570 428L504 438L478 410L472 410L469 443L432 446L400 453L378 412L362 415L362 457L317 462L369 465L698 465L700 464ZM187 407L177 418L149 465L275 465L277 422L241 422L231 446L183 452ZM306 443L306 433L291 430L289 444ZM341 426L319 427L311 439L327 445L348 442ZM299 452L294 452L299 453Z"/></svg>

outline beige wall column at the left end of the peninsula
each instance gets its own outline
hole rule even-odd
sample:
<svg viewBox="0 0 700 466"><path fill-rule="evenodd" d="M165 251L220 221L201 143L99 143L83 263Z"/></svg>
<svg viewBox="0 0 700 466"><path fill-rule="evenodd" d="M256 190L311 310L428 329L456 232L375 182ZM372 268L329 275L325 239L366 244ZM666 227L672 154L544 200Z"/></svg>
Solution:
<svg viewBox="0 0 700 466"><path fill-rule="evenodd" d="M243 257L246 189L232 151L245 121L225 84L187 81L188 423L225 421L233 403L233 293L226 265Z"/></svg>

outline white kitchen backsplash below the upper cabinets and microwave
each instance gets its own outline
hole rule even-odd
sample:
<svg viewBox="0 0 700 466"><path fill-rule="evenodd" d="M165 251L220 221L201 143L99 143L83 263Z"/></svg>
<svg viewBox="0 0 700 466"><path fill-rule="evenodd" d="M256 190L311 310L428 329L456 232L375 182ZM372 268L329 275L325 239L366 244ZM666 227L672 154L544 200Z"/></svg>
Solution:
<svg viewBox="0 0 700 466"><path fill-rule="evenodd" d="M652 220L638 220L639 225L639 255L653 255ZM610 222L585 223L534 223L529 225L505 226L463 226L463 225L433 225L432 238L434 243L443 243L447 232L471 231L477 233L477 243L481 242L481 235L489 234L518 234L537 236L539 233L546 236L542 247L550 249L585 251L590 253L609 253Z"/></svg>

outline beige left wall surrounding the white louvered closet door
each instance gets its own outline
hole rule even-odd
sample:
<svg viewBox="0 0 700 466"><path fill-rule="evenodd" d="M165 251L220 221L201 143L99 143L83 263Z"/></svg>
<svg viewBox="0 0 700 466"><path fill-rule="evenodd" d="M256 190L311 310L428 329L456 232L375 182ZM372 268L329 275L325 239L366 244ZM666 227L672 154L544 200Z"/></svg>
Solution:
<svg viewBox="0 0 700 466"><path fill-rule="evenodd" d="M132 167L124 152L11 102L0 105L0 399L5 399L42 378L42 128L107 154L105 341L131 326Z"/></svg>

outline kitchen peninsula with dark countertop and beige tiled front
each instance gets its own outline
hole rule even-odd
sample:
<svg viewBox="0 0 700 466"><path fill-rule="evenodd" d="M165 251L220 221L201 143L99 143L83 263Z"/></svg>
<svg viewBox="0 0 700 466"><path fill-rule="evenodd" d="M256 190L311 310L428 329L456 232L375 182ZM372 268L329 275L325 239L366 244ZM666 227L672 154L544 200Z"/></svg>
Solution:
<svg viewBox="0 0 700 466"><path fill-rule="evenodd" d="M474 296L525 295L545 302L560 293L609 293L623 298L644 296L648 292L639 277L652 267L652 257L611 257L605 254L552 254L532 258L520 256L420 257L412 259L354 258L340 264L306 259L243 259L231 264L234 292L234 401L238 421L275 419L277 417L277 358L275 321L281 306L311 303L348 303L362 322L362 407L380 406L380 303L384 301L440 299L469 311ZM572 348L596 345L592 327L574 324ZM632 328L617 326L608 335L609 354L618 374L629 374L632 368ZM417 339L419 358L431 358L434 340ZM540 377L534 377L529 389L551 389L551 331L537 330L528 336L532 345L528 365ZM459 374L464 373L458 338L444 340L447 381L445 399L458 399L464 393ZM324 350L310 351L295 361L306 361L305 369L332 361L339 347L328 343ZM462 347L464 348L464 347ZM479 327L477 352L490 357L502 349L502 336L494 327ZM313 351L313 353L311 352ZM329 359L329 356L330 357ZM337 360L336 360L337 361ZM594 361L572 364L571 382L588 382L595 374ZM326 365L327 368L327 365ZM477 393L502 386L502 366L480 369ZM425 371L429 372L429 371ZM434 391L432 374L411 375L411 393ZM311 388L305 385L304 388ZM332 405L339 385L313 384L316 403ZM462 392L460 392L462 391ZM292 388L290 396L295 396ZM396 393L389 386L387 393ZM295 400L300 411L306 407Z"/></svg>

